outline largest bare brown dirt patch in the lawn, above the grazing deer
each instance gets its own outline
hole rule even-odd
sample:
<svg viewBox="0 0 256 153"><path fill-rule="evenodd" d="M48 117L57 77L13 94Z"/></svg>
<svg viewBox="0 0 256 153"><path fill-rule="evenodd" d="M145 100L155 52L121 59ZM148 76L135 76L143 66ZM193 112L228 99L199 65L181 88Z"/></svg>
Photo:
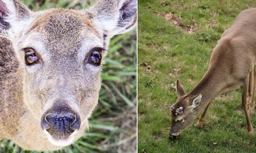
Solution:
<svg viewBox="0 0 256 153"><path fill-rule="evenodd" d="M195 20L191 18L191 21L189 25L184 24L184 20L175 13L159 13L155 12L159 17L163 17L167 22L169 22L172 25L175 25L176 27L179 27L179 29L182 29L182 31L185 31L186 33L194 33L196 30L198 30L198 25L195 24Z"/></svg>

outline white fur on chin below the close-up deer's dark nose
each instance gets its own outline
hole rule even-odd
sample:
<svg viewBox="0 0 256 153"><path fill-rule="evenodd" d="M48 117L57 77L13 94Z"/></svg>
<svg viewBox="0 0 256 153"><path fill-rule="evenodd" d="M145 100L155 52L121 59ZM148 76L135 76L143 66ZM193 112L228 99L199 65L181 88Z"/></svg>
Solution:
<svg viewBox="0 0 256 153"><path fill-rule="evenodd" d="M47 135L47 138L48 138L49 142L52 143L52 145L65 147L65 146L70 145L71 143L74 142L75 135L77 134L77 130L74 131L72 133L72 135L70 135L68 138L66 138L64 140L56 140L56 139L52 138L52 136L45 129L44 129L44 133Z"/></svg>

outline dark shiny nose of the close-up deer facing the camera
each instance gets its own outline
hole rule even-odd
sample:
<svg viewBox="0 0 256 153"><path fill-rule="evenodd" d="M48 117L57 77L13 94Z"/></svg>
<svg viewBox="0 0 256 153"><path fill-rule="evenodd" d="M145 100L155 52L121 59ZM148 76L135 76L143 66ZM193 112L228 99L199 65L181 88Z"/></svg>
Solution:
<svg viewBox="0 0 256 153"><path fill-rule="evenodd" d="M56 108L49 110L42 116L41 126L52 138L63 140L68 138L80 127L80 117L70 108Z"/></svg>

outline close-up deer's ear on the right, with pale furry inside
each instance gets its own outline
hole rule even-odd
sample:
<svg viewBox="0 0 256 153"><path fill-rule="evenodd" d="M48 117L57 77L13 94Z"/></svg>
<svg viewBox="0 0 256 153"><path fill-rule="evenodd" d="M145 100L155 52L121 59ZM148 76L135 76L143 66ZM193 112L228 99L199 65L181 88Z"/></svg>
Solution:
<svg viewBox="0 0 256 153"><path fill-rule="evenodd" d="M136 0L100 0L88 11L108 37L130 31L137 22Z"/></svg>

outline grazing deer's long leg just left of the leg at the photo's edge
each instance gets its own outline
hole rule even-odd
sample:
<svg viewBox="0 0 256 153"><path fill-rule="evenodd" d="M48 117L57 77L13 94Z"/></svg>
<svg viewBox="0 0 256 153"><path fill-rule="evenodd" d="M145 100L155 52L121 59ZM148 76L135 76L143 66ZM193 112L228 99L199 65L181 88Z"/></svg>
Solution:
<svg viewBox="0 0 256 153"><path fill-rule="evenodd" d="M249 78L247 77L246 80L244 80L244 85L242 87L242 104L245 112L245 117L246 117L246 122L247 122L247 130L250 135L253 135L253 128L252 128L252 123L250 121L250 117L248 115L248 109L247 109L247 92L248 92L248 83L249 83Z"/></svg>

